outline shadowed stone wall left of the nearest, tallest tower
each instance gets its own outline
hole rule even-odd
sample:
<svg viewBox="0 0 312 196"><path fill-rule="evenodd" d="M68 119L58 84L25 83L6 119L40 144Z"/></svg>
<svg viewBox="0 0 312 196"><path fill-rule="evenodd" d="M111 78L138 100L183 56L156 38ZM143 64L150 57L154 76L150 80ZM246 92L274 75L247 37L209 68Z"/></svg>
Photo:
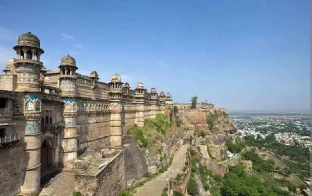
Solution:
<svg viewBox="0 0 312 196"><path fill-rule="evenodd" d="M1 92L1 97L6 97ZM9 99L8 113L0 110L0 123L12 123L5 127L5 137L20 135L20 141L15 145L5 147L0 145L0 196L15 196L21 189L23 183L23 165L27 165L29 154L24 154L25 144L23 141L25 134L25 120L22 115L22 96L15 95L15 99ZM25 156L24 156L25 155Z"/></svg>

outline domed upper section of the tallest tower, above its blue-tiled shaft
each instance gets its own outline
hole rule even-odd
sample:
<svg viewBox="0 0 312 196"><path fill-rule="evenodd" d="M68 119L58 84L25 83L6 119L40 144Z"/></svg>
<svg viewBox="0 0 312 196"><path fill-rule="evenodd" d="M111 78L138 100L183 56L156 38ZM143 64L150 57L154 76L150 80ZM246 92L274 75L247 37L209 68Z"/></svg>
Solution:
<svg viewBox="0 0 312 196"><path fill-rule="evenodd" d="M17 53L17 59L14 60L17 73L16 91L40 91L40 56L44 51L40 48L39 38L31 32L24 33L18 37L17 46L13 49Z"/></svg>

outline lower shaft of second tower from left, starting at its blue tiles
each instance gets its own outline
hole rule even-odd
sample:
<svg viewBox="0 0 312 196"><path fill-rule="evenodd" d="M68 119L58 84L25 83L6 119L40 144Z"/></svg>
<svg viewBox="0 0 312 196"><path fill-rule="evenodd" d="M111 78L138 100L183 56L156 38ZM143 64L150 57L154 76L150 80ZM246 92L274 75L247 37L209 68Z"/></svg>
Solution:
<svg viewBox="0 0 312 196"><path fill-rule="evenodd" d="M77 142L77 103L73 98L65 98L63 152L64 166L66 162L75 160L78 152Z"/></svg>

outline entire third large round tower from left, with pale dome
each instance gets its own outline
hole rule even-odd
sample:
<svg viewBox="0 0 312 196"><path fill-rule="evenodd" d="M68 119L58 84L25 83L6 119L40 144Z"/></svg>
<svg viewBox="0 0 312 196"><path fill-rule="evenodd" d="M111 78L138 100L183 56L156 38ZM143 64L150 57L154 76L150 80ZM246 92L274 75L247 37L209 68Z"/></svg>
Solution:
<svg viewBox="0 0 312 196"><path fill-rule="evenodd" d="M115 148L122 147L123 137L123 82L121 82L121 76L115 73L110 83L110 145Z"/></svg>

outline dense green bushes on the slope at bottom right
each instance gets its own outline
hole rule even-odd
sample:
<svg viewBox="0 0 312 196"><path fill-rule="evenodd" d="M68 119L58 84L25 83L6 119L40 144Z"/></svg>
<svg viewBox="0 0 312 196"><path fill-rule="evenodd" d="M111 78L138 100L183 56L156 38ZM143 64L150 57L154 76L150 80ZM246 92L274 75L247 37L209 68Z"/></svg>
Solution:
<svg viewBox="0 0 312 196"><path fill-rule="evenodd" d="M233 149L240 149L245 145L243 142L227 142ZM212 196L290 196L297 193L297 188L305 188L304 185L297 186L286 178L291 174L289 169L280 169L274 160L261 158L255 150L241 154L243 159L253 163L253 174L248 174L245 166L238 164L229 166L223 179L220 175L213 175L211 170L200 164L199 160L195 159L194 150L191 150L192 175L188 183L189 195L198 194L199 186L194 179L195 174L199 176L205 191L209 190ZM283 178L276 178L275 174L283 174Z"/></svg>

